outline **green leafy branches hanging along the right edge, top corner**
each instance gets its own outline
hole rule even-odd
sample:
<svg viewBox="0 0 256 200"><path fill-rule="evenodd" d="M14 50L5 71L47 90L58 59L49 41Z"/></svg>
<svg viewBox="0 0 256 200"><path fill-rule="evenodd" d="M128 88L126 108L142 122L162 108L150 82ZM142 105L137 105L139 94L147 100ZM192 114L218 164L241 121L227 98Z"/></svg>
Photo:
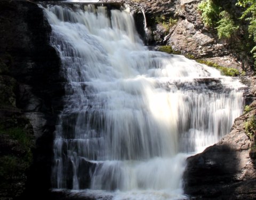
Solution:
<svg viewBox="0 0 256 200"><path fill-rule="evenodd" d="M252 37L253 41L256 43L256 1L255 0L238 0L236 5L242 6L246 9L241 19L246 19L250 22L248 31L249 31L250 37ZM253 57L254 57L254 66L256 66L256 45L255 44L251 50L251 53L253 54Z"/></svg>

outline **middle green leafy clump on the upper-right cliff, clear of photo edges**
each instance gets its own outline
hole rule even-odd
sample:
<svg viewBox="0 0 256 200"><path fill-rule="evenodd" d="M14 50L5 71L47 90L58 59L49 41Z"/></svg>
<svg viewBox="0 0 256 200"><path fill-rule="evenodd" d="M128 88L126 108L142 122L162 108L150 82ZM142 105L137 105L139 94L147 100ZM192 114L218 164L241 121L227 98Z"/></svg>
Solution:
<svg viewBox="0 0 256 200"><path fill-rule="evenodd" d="M230 14L227 11L222 11L220 14L221 20L217 22L219 25L217 28L218 36L220 39L229 39L233 35L239 26L235 26L234 20L231 19Z"/></svg>

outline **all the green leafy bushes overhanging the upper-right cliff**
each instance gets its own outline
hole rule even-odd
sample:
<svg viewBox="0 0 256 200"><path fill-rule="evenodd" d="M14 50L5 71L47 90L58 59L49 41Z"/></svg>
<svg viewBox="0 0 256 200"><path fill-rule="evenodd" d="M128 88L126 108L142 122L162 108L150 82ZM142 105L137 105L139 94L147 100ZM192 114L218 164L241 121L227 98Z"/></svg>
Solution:
<svg viewBox="0 0 256 200"><path fill-rule="evenodd" d="M229 3L231 4L231 3ZM243 7L242 15L232 11L230 6L224 6L219 0L204 0L198 5L205 27L217 30L219 39L233 39L245 31L243 49L248 49L254 57L256 66L256 2L254 0L238 0L238 6ZM249 21L249 26L246 21ZM244 28L247 27L247 30ZM247 33L246 33L247 32ZM240 36L241 37L241 36Z"/></svg>

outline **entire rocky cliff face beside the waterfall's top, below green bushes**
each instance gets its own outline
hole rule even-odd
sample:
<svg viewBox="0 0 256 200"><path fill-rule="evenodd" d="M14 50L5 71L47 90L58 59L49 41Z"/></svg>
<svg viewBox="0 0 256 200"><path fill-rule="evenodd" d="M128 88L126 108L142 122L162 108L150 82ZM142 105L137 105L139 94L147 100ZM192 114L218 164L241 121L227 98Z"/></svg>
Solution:
<svg viewBox="0 0 256 200"><path fill-rule="evenodd" d="M219 39L214 29L204 26L197 9L200 2L201 0L129 0L125 4L132 8L135 20L138 15L140 19L143 18L142 12L145 13L147 29L144 30L143 21L139 20L137 28L147 45L170 45L179 54L236 68L252 75L253 60L250 52L241 48L245 44L243 34L229 40ZM229 0L221 4L238 17L241 10L235 3L236 1Z"/></svg>

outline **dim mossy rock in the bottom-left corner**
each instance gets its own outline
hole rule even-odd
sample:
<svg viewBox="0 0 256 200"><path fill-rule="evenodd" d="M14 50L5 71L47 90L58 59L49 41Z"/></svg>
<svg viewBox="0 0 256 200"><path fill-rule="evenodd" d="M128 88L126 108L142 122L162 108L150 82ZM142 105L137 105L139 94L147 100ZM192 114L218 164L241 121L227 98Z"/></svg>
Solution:
<svg viewBox="0 0 256 200"><path fill-rule="evenodd" d="M5 199L19 196L24 190L26 173L33 161L32 148L33 127L28 119L5 111L0 118L0 194Z"/></svg>

